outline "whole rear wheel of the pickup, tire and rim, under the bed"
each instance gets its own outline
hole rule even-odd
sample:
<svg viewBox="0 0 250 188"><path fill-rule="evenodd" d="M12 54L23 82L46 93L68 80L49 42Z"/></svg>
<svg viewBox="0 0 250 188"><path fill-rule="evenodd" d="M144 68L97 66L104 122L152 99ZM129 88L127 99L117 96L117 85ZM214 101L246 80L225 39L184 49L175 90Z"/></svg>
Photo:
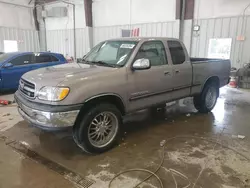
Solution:
<svg viewBox="0 0 250 188"><path fill-rule="evenodd" d="M213 110L219 96L219 88L216 84L209 83L205 86L202 93L194 96L194 106L201 113Z"/></svg>

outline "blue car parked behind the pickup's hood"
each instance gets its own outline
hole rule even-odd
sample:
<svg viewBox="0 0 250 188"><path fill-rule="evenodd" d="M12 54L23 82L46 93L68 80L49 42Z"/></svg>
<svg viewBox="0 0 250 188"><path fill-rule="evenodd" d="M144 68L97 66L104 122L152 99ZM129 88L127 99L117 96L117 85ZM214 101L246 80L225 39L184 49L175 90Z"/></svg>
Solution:
<svg viewBox="0 0 250 188"><path fill-rule="evenodd" d="M0 55L0 91L17 89L21 76L31 70L67 63L62 54L13 52Z"/></svg>

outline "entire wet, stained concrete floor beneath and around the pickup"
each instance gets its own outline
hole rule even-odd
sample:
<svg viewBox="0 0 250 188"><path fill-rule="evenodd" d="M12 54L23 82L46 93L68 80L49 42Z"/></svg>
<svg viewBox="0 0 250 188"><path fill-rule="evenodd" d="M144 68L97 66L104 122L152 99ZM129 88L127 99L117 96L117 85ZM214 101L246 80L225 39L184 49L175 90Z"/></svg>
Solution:
<svg viewBox="0 0 250 188"><path fill-rule="evenodd" d="M0 107L0 114L5 115L0 115L0 188L29 187L30 182L33 187L105 188L123 170L154 171L161 162L162 140L167 141L165 159L157 175L164 187L176 187L170 169L181 173L172 173L178 188L189 183L193 188L250 187L250 161L246 159L250 158L249 91L221 89L215 109L208 114L197 113L189 98L168 104L165 115L138 112L125 119L121 144L96 156L82 153L70 130L44 132L24 121L7 125L2 120L6 113L19 121L14 108ZM111 187L133 187L147 175L123 174ZM151 178L141 187L160 185Z"/></svg>

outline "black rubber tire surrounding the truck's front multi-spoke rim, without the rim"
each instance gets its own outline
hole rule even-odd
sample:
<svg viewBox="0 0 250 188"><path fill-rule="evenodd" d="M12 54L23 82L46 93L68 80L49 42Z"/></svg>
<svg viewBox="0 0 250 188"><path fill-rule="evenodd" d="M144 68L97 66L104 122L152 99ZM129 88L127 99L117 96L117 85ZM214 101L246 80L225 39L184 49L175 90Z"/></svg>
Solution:
<svg viewBox="0 0 250 188"><path fill-rule="evenodd" d="M103 147L96 147L93 145L88 138L88 131L91 122L96 116L103 112L109 112L117 118L117 131L115 131L114 136L112 136L112 141L108 142L107 145ZM75 125L73 128L73 137L76 144L86 153L96 154L108 151L111 149L119 140L121 133L122 116L117 107L113 104L99 104L96 105L84 113L83 118Z"/></svg>

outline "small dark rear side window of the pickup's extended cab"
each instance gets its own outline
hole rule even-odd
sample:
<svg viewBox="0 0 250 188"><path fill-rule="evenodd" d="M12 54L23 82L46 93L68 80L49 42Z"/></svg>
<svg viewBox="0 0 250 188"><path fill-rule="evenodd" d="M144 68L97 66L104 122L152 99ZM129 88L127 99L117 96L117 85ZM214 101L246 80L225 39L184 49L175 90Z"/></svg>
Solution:
<svg viewBox="0 0 250 188"><path fill-rule="evenodd" d="M173 65L179 65L186 61L185 50L179 41L168 41L168 47Z"/></svg>

